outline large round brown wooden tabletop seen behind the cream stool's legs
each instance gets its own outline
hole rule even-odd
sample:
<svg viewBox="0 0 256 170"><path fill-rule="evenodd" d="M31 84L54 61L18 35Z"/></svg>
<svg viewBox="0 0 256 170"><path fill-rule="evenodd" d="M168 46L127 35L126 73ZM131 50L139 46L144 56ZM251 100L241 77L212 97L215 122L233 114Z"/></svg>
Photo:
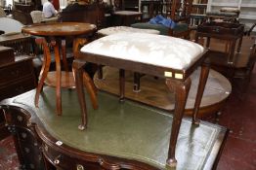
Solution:
<svg viewBox="0 0 256 170"><path fill-rule="evenodd" d="M95 85L104 91L119 94L118 70L111 67L104 67L104 79L94 77ZM192 114L194 99L197 91L200 69L192 74L192 86L186 106L186 114ZM141 78L141 91L133 91L133 73L125 72L125 97L146 103L151 106L158 107L163 110L173 111L174 109L174 93L165 85L164 79L157 79L146 75ZM218 72L211 70L208 82L203 94L201 109L199 111L200 118L206 118L215 114L223 107L226 99L232 90L230 82Z"/></svg>

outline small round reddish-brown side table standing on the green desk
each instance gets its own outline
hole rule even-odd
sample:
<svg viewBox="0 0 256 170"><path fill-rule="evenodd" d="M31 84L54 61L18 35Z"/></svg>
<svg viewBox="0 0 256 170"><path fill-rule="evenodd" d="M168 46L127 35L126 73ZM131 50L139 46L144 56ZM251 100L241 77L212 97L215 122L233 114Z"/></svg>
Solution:
<svg viewBox="0 0 256 170"><path fill-rule="evenodd" d="M72 76L68 76L68 68L65 56L65 47L62 45L62 40L65 37L78 37L78 36L89 36L96 31L96 26L90 23L79 23L79 22L56 22L46 24L28 25L22 28L23 33L28 33L35 36L41 36L45 39L41 42L44 48L44 63L40 73L39 84L35 94L35 106L38 106L39 94L42 90L42 86L47 78L50 63L51 63L51 51L50 47L54 48L55 60L56 60L56 72L55 74L55 86L56 86L56 102L57 102L57 114L62 115L62 97L61 97L61 54L63 54L65 78L68 82L73 82ZM61 48L62 47L62 48ZM71 78L69 80L68 78ZM68 85L67 85L68 86ZM73 87L73 85L70 85Z"/></svg>

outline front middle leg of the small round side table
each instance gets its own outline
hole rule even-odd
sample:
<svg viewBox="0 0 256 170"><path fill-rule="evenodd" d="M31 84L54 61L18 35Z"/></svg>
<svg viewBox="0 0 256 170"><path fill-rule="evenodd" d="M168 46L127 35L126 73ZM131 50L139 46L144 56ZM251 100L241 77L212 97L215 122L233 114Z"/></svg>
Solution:
<svg viewBox="0 0 256 170"><path fill-rule="evenodd" d="M55 62L56 62L56 109L57 115L62 115L62 90L61 90L61 79L62 79L62 70L61 70L61 56L59 44L57 41L51 41L52 46L54 47L55 52Z"/></svg>

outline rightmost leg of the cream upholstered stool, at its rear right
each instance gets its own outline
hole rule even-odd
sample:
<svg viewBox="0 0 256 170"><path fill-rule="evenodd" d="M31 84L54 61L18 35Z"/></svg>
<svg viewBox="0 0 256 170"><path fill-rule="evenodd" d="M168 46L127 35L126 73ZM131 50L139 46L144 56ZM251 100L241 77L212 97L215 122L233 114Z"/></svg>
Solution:
<svg viewBox="0 0 256 170"><path fill-rule="evenodd" d="M197 119L197 114L199 112L204 87L206 85L208 75L209 75L209 70L210 69L207 65L201 66L200 79L199 79L199 84L198 84L198 88L197 88L196 98L194 101L194 108L192 111L192 123L193 124L199 124L199 119Z"/></svg>

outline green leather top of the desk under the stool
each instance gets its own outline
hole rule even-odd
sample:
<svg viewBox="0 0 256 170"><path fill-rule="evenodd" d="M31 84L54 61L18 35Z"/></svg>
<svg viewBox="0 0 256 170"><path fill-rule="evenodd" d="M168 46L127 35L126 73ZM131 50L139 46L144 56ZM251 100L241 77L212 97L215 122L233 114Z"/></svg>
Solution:
<svg viewBox="0 0 256 170"><path fill-rule="evenodd" d="M93 110L88 98L88 127L78 130L80 109L74 89L62 89L63 116L55 113L55 88L45 87L34 107L35 91L14 99L14 103L31 107L47 131L65 145L90 153L102 153L135 159L165 169L172 115L167 112L99 92L99 109ZM176 169L209 169L220 150L226 128L201 122L198 127L183 119L176 158ZM205 166L207 164L207 167Z"/></svg>

